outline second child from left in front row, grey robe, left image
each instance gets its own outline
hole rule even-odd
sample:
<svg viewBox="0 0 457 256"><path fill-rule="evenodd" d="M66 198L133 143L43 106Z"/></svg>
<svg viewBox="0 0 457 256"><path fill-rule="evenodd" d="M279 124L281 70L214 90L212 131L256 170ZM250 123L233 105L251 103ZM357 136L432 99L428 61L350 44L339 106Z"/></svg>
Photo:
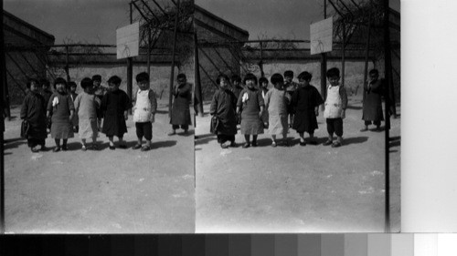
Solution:
<svg viewBox="0 0 457 256"><path fill-rule="evenodd" d="M73 100L69 97L66 90L67 81L64 78L58 77L54 81L54 89L56 92L49 98L48 102L48 118L51 117L51 137L56 141L54 152L67 150L67 141L73 138L73 127L71 119L73 118L75 106ZM63 140L60 148L60 139Z"/></svg>

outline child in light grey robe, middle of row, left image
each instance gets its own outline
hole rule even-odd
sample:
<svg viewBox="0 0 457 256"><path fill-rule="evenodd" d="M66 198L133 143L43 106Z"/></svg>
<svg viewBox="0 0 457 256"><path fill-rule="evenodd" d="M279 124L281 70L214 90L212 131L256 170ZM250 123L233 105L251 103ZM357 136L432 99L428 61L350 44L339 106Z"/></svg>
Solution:
<svg viewBox="0 0 457 256"><path fill-rule="evenodd" d="M92 149L98 149L97 137L97 109L101 106L101 100L93 94L93 83L89 77L85 77L80 83L83 91L75 98L75 110L79 117L81 150L86 151L86 139L92 139Z"/></svg>

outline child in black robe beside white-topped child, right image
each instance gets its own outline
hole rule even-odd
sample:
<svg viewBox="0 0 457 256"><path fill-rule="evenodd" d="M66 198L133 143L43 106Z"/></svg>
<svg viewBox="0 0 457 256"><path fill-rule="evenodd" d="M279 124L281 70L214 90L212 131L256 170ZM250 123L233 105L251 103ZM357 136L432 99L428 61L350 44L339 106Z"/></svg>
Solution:
<svg viewBox="0 0 457 256"><path fill-rule="evenodd" d="M299 87L292 95L292 106L295 108L292 128L300 135L300 145L306 146L303 138L304 132L310 135L309 143L317 145L314 138L314 130L317 127L317 116L319 116L319 105L324 103L323 98L317 89L310 85L313 75L304 71L298 76Z"/></svg>

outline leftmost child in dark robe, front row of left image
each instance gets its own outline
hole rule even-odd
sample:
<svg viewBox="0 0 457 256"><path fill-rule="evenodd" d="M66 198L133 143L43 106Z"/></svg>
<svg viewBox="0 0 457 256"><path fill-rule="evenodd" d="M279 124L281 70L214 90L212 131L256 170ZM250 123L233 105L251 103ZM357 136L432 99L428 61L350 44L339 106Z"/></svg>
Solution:
<svg viewBox="0 0 457 256"><path fill-rule="evenodd" d="M32 152L37 153L37 146L41 146L41 150L45 151L45 141L48 137L46 130L46 100L39 94L39 84L36 79L30 79L27 82L29 89L27 96L21 107L21 119L25 119L29 123L27 135L28 147Z"/></svg>

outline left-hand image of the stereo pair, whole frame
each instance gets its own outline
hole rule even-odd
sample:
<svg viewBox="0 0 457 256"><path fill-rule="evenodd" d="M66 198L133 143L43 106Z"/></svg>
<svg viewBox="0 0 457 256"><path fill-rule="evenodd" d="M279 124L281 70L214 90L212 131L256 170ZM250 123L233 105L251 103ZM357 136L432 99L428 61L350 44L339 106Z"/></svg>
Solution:
<svg viewBox="0 0 457 256"><path fill-rule="evenodd" d="M193 13L4 1L5 233L195 232Z"/></svg>

